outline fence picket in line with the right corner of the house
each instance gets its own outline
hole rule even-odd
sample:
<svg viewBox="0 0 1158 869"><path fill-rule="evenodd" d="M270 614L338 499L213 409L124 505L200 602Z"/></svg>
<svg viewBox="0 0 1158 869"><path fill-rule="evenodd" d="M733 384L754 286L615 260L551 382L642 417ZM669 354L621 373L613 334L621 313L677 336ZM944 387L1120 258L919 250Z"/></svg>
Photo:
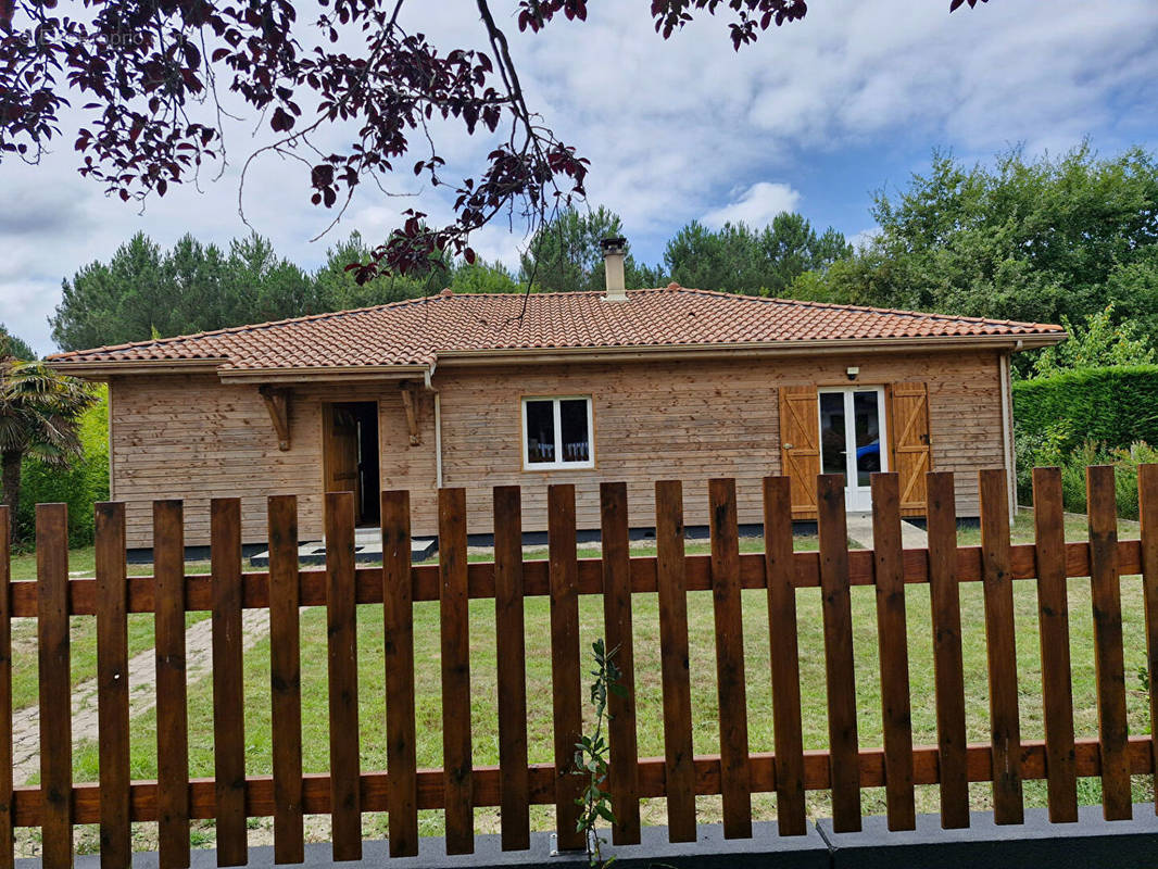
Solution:
<svg viewBox="0 0 1158 869"><path fill-rule="evenodd" d="M1021 799L1021 724L1017 706L1009 489L1003 469L981 470L977 477L989 659L989 728L994 752L994 820L997 824L1021 824L1025 806Z"/></svg>

